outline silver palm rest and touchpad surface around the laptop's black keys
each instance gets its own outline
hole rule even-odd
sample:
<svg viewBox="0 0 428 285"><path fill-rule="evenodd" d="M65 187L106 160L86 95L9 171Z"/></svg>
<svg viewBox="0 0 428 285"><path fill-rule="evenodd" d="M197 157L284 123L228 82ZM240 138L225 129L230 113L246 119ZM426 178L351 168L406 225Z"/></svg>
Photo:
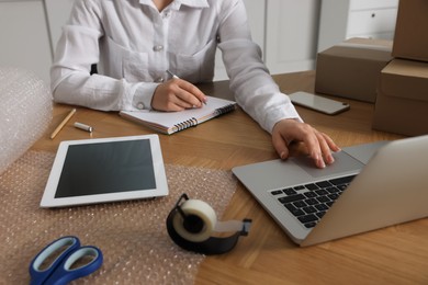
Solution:
<svg viewBox="0 0 428 285"><path fill-rule="evenodd" d="M326 169L317 169L311 158L299 157L236 167L232 171L291 239L301 243L312 229L304 227L271 192L356 174L364 166L346 151L334 153L334 157L336 162Z"/></svg>

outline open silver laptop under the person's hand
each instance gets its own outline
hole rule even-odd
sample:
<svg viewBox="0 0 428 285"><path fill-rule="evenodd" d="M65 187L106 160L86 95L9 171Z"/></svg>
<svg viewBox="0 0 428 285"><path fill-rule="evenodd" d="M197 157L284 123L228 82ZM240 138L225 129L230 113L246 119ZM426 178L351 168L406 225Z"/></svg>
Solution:
<svg viewBox="0 0 428 285"><path fill-rule="evenodd" d="M301 247L428 216L428 136L343 148L317 169L308 157L232 171Z"/></svg>

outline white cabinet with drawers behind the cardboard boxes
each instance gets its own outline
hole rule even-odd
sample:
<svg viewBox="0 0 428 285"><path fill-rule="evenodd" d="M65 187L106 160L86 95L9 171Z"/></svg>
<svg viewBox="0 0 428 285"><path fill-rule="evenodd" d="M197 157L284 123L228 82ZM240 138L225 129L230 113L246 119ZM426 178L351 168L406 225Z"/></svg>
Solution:
<svg viewBox="0 0 428 285"><path fill-rule="evenodd" d="M398 0L323 0L318 52L350 37L393 39Z"/></svg>

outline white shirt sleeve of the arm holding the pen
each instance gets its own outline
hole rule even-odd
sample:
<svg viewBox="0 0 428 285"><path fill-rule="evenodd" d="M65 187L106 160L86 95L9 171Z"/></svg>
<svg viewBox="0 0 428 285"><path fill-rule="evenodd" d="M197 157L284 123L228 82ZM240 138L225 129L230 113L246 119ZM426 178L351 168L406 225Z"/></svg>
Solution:
<svg viewBox="0 0 428 285"><path fill-rule="evenodd" d="M149 109L158 83L90 75L91 65L100 60L99 39L104 35L97 3L76 0L63 27L50 68L54 100L101 111Z"/></svg>

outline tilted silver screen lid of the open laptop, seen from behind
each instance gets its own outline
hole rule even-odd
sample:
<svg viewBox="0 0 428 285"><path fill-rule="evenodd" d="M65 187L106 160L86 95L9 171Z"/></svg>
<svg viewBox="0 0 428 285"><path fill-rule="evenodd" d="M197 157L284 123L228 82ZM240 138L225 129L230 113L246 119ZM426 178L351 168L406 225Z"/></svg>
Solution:
<svg viewBox="0 0 428 285"><path fill-rule="evenodd" d="M428 136L382 147L301 246L428 216Z"/></svg>

